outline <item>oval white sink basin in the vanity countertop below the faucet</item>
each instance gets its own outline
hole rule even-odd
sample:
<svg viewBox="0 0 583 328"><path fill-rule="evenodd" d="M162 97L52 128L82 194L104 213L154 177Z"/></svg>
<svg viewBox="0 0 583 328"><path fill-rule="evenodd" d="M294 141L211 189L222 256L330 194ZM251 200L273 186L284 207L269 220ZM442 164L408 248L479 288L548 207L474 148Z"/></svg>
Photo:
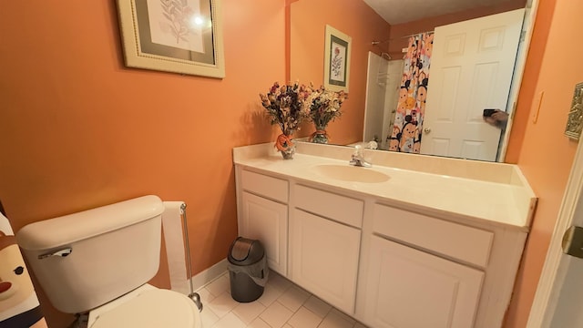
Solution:
<svg viewBox="0 0 583 328"><path fill-rule="evenodd" d="M390 177L383 172L371 168L355 167L352 165L322 164L316 165L314 170L322 177L343 181L378 183L388 181Z"/></svg>

